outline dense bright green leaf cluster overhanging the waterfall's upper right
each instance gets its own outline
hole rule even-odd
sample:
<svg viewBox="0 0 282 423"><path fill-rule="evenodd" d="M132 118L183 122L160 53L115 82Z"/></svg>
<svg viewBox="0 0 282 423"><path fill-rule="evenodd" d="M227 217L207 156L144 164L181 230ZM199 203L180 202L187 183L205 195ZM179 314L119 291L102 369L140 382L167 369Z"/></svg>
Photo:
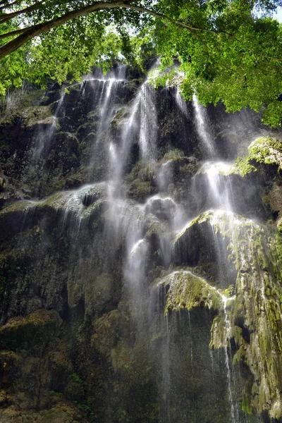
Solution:
<svg viewBox="0 0 282 423"><path fill-rule="evenodd" d="M230 2L217 16L210 8L192 3L181 20L207 32L189 32L168 23L159 28L156 42L162 66L171 66L173 56L180 61L180 90L185 99L197 92L204 105L221 101L227 111L264 107L264 123L280 125L281 25L269 17L254 18L241 1ZM157 83L170 77L162 75Z"/></svg>

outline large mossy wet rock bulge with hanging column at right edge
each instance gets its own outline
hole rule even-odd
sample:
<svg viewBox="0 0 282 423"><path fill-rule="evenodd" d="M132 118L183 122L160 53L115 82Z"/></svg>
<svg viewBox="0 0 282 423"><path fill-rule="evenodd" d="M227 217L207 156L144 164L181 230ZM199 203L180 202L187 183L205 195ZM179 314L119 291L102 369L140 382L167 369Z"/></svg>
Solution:
<svg viewBox="0 0 282 423"><path fill-rule="evenodd" d="M212 231L209 228L212 228ZM259 389L260 396L258 400L256 396L248 393L252 408L257 412L269 410L270 415L280 418L281 414L277 409L282 400L278 393L282 379L281 364L278 364L281 362L281 341L278 333L281 333L282 309L278 304L277 308L274 308L274 298L281 295L281 286L278 283L281 265L276 262L271 264L269 261L269 257L278 252L276 243L269 243L269 236L271 235L265 232L264 228L241 216L219 211L207 212L178 234L174 252L176 263L186 262L201 266L202 258L206 262L206 270L207 262L226 261L225 268L223 262L221 263L223 281L231 280L228 266L235 264L238 274L234 281L236 297L231 307L231 322L240 324L242 329L238 332L233 328L233 336L237 337L236 344L242 347L235 360L243 360L255 377L254 384ZM195 250L189 247L195 240L199 243L196 247L199 255L195 255ZM203 259L201 254L204 245L209 247L204 250ZM217 281L220 280L222 279L218 275ZM219 324L220 321L215 322L213 329L216 329L216 332L219 332ZM249 333L247 342L246 331ZM216 338L215 342L221 343L219 334ZM244 354L242 350L245 350ZM266 386L266 390L262 388L262 384Z"/></svg>

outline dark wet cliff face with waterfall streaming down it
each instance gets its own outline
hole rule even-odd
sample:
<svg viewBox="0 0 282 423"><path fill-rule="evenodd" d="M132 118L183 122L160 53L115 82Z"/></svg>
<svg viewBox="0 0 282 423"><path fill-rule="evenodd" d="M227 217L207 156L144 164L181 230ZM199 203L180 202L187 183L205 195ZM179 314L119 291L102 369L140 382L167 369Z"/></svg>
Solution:
<svg viewBox="0 0 282 423"><path fill-rule="evenodd" d="M0 122L0 422L282 422L280 135L133 75Z"/></svg>

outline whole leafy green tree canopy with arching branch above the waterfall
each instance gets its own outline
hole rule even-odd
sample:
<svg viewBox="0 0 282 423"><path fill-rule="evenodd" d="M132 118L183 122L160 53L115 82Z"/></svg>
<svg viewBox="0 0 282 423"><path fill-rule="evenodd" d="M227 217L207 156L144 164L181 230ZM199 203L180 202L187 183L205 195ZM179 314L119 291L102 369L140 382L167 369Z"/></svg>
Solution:
<svg viewBox="0 0 282 423"><path fill-rule="evenodd" d="M161 57L155 83L228 111L263 109L281 124L281 0L0 0L0 94L23 80L79 80L119 59L143 71ZM171 72L166 69L171 66Z"/></svg>

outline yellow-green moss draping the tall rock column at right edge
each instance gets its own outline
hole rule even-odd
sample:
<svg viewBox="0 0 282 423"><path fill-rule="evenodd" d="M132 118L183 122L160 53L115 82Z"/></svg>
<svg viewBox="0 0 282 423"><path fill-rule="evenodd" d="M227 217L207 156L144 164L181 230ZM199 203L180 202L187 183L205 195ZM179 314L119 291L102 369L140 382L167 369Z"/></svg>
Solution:
<svg viewBox="0 0 282 423"><path fill-rule="evenodd" d="M194 231L196 226L197 232ZM199 243L204 240L209 250L216 250L219 242L223 243L228 251L228 261L236 266L235 300L228 309L231 336L238 345L233 364L247 364L258 392L257 396L250 396L250 401L245 400L244 407L246 412L254 408L257 412L267 410L269 415L277 416L278 405L282 410L281 234L268 233L266 228L250 219L219 211L198 216L178 234L175 247L187 250L191 234L193 243L195 236L200 236ZM191 248L190 245L190 254ZM207 256L206 260L212 260L212 257ZM212 326L211 347L226 345L223 320L223 314L219 312Z"/></svg>

